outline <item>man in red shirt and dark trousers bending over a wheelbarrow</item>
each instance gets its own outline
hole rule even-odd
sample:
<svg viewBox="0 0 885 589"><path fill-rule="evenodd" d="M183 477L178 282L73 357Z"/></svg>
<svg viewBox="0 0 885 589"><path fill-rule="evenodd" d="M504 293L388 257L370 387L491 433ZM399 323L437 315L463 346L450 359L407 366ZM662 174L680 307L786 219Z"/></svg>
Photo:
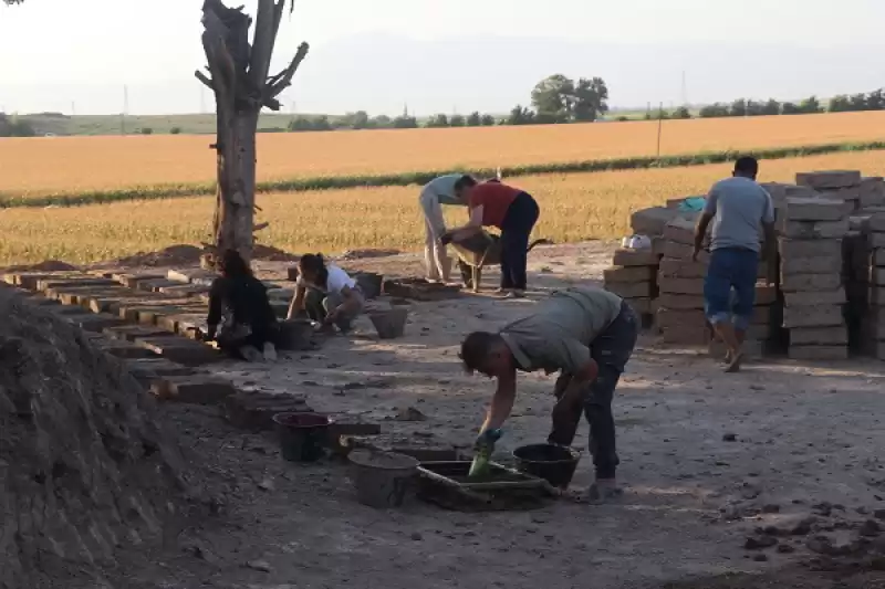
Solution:
<svg viewBox="0 0 885 589"><path fill-rule="evenodd" d="M447 233L460 241L482 231L501 230L501 292L522 296L525 292L529 236L538 222L538 202L525 191L489 181L478 183L465 176L455 183L455 194L470 209L470 222Z"/></svg>

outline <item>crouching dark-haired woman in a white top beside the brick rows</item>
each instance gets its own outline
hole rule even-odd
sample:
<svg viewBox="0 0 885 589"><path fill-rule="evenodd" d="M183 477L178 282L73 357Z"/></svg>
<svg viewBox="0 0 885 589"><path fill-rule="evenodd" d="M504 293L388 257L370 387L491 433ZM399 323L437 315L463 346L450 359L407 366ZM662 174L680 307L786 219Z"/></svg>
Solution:
<svg viewBox="0 0 885 589"><path fill-rule="evenodd" d="M334 326L346 334L363 311L365 298L356 281L322 254L304 254L298 263L295 296L289 306L289 318L304 313L326 332Z"/></svg>

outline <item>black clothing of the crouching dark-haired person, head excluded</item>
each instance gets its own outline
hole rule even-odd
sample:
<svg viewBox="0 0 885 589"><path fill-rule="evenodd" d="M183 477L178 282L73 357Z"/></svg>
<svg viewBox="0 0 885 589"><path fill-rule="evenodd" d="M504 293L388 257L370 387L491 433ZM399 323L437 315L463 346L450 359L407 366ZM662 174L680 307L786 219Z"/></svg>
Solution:
<svg viewBox="0 0 885 589"><path fill-rule="evenodd" d="M266 344L277 344L279 326L268 299L268 290L258 278L249 275L220 276L209 291L210 338L218 341L222 351L243 358L243 348L258 351Z"/></svg>

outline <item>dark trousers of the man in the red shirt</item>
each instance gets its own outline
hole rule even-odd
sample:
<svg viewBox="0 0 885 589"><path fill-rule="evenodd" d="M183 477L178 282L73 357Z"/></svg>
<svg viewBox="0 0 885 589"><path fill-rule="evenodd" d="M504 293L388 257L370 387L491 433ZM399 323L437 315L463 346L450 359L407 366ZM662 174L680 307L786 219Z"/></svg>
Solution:
<svg viewBox="0 0 885 589"><path fill-rule="evenodd" d="M525 290L529 236L540 212L538 202L527 192L517 194L508 207L501 223L501 288Z"/></svg>

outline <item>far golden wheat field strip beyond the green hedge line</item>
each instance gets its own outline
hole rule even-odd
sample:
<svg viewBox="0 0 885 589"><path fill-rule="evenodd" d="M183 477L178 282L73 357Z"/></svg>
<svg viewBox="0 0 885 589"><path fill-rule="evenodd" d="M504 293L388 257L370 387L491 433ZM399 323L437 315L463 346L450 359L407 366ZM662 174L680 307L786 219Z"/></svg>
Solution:
<svg viewBox="0 0 885 589"><path fill-rule="evenodd" d="M662 152L882 139L885 112L668 120ZM0 140L0 192L74 194L211 182L211 136ZM259 180L524 166L655 155L656 122L259 136Z"/></svg>

